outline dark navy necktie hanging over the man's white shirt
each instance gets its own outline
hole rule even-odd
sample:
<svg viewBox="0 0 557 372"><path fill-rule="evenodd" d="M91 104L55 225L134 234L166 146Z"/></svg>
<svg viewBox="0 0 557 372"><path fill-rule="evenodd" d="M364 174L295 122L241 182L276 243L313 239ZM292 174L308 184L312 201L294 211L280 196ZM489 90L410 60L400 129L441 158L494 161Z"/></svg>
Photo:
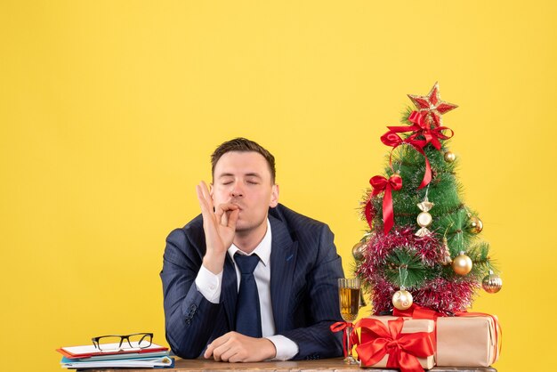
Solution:
<svg viewBox="0 0 557 372"><path fill-rule="evenodd" d="M259 256L237 253L234 255L234 260L242 274L236 303L236 331L246 336L261 337L261 309L254 278Z"/></svg>

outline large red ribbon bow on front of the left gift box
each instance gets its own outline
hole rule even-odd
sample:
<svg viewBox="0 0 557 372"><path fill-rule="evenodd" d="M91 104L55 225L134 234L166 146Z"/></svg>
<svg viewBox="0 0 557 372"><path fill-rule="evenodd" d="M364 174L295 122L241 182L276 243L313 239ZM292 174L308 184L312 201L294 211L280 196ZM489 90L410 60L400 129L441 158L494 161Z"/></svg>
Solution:
<svg viewBox="0 0 557 372"><path fill-rule="evenodd" d="M401 334L404 319L389 320L388 328L377 319L360 319L356 328L362 328L362 336L367 333L373 338L359 344L356 332L352 333L352 343L357 344L356 352L364 366L373 366L389 354L387 368L400 368L401 372L424 371L418 358L433 355L433 344L430 334L416 332Z"/></svg>

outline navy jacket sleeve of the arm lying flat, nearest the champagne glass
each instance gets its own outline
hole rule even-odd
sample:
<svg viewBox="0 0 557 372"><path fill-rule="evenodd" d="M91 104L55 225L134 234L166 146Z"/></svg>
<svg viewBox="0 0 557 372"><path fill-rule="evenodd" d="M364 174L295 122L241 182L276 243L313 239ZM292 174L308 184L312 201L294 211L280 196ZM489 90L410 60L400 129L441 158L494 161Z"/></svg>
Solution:
<svg viewBox="0 0 557 372"><path fill-rule="evenodd" d="M308 303L305 328L282 333L296 344L299 351L294 360L334 358L343 353L342 336L333 333L330 326L342 320L338 301L338 279L344 277L342 260L336 253L333 232L323 226L319 236L315 264L307 274Z"/></svg>

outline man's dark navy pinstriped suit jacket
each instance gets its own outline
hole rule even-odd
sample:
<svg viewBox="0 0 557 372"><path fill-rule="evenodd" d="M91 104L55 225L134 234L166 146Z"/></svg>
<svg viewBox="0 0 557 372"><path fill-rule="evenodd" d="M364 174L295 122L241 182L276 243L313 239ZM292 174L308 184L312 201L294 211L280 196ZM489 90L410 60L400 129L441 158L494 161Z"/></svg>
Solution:
<svg viewBox="0 0 557 372"><path fill-rule="evenodd" d="M340 356L340 334L329 329L341 319L337 279L344 276L333 233L326 224L280 204L269 210L269 221L270 296L277 335L298 345L296 360ZM238 295L234 263L226 255L221 300L210 303L195 286L205 253L201 215L166 239L160 273L166 340L182 358L198 358L207 344L234 329Z"/></svg>

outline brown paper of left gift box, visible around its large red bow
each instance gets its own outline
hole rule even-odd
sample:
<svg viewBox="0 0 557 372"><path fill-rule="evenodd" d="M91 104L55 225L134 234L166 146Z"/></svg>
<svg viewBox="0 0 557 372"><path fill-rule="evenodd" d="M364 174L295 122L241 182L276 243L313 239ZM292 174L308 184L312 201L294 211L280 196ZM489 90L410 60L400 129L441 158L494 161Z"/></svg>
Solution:
<svg viewBox="0 0 557 372"><path fill-rule="evenodd" d="M385 327L388 328L389 320L396 320L396 319L399 319L399 318L391 317L391 316L372 316L372 317L369 317L367 319L377 319L377 320L381 321ZM434 348L434 344L433 344L434 331L435 331L435 322L433 320L430 320L430 319L408 319L407 318L407 319L404 319L404 324L403 324L402 330L400 332L400 335L417 333L417 332L424 332L426 334L429 334L429 335L425 335L425 337L427 337L428 343L431 343L433 348ZM372 334L371 332L367 331L366 328L359 328L359 344L360 345L366 344L366 343L372 341L375 338L376 338L376 336L374 334ZM358 350L361 351L361 349L359 349L357 347L356 351L358 352ZM363 368L371 368L371 367L385 368L385 367L387 367L387 360L389 359L389 355L386 354L386 355L383 356L382 360L379 360L378 362L376 362L373 365L367 366L365 364L365 362L362 361L361 357L362 356L359 355L358 359L360 360L360 367L363 367ZM417 360L420 363L420 365L422 366L422 368L424 368L424 369L430 369L430 368L433 368L433 366L435 366L435 359L434 359L433 353L432 353L432 355L430 355L426 358L417 358Z"/></svg>

